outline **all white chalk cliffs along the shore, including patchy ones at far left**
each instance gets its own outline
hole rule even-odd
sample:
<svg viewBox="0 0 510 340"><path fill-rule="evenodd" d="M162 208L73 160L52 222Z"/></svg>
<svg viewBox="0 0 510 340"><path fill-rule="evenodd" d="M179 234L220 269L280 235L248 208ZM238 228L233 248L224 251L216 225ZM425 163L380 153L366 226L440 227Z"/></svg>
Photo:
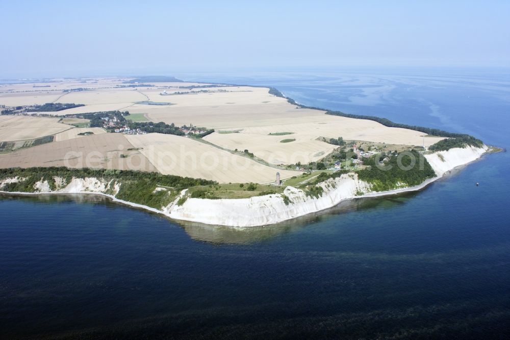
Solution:
<svg viewBox="0 0 510 340"><path fill-rule="evenodd" d="M176 220L200 222L213 225L224 225L233 227L262 226L290 220L298 216L327 209L339 204L343 200L356 197L373 197L391 195L403 191L412 191L423 188L429 183L443 176L453 168L467 164L478 159L489 148L485 145L482 148L455 148L448 151L436 152L425 155L438 177L429 179L415 187L403 187L385 192L373 192L370 184L358 179L356 174L344 174L336 179L329 179L320 183L323 193L318 198L307 196L306 193L294 187L287 187L284 195L290 200L285 203L284 198L279 194L256 196L247 199L192 199L189 198L182 205L177 201L186 194L183 190L174 202L160 210L121 201L115 198L120 189L120 183L115 182L113 190L109 190L111 181L99 180L97 178L77 179L73 178L66 183L63 178L55 177L56 189L50 189L47 181L39 181L35 184L38 193L98 193L111 197L117 202L131 206L144 208L150 211L162 213ZM19 182L19 178L5 179L0 182L0 190L7 183ZM108 195L110 192L111 195ZM359 196L358 196L359 195Z"/></svg>

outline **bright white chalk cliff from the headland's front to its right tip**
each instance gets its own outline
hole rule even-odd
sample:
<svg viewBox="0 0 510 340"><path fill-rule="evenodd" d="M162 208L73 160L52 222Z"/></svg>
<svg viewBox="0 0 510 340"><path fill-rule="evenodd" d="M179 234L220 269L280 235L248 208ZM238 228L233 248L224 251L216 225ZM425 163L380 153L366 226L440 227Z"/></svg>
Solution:
<svg viewBox="0 0 510 340"><path fill-rule="evenodd" d="M201 222L225 226L250 227L273 224L317 212L339 204L343 200L356 197L374 197L392 195L404 191L419 190L442 177L453 168L478 159L488 148L468 147L426 155L438 177L429 179L415 187L403 187L385 192L373 192L370 184L360 181L356 175L342 175L321 183L324 192L319 198L307 197L305 193L293 187L287 187L284 194L291 200L286 205L277 194L252 197L249 199L188 199L182 206L174 203L165 207L165 213L176 220ZM438 156L440 154L441 156ZM444 161L441 159L444 159ZM356 196L363 192L363 195ZM182 196L183 194L181 194Z"/></svg>

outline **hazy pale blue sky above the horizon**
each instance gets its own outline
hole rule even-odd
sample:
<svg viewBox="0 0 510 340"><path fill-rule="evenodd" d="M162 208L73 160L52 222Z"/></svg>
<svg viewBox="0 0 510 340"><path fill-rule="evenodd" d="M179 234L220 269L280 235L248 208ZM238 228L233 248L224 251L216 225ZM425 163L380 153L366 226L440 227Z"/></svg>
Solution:
<svg viewBox="0 0 510 340"><path fill-rule="evenodd" d="M0 78L510 67L510 1L2 1Z"/></svg>

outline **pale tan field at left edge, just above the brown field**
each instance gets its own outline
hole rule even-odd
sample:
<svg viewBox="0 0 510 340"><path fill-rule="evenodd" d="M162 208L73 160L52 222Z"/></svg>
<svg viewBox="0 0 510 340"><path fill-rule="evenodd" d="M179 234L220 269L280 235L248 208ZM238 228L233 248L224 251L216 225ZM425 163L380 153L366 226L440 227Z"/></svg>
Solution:
<svg viewBox="0 0 510 340"><path fill-rule="evenodd" d="M31 116L0 116L0 141L26 140L54 135L70 129L58 118Z"/></svg>

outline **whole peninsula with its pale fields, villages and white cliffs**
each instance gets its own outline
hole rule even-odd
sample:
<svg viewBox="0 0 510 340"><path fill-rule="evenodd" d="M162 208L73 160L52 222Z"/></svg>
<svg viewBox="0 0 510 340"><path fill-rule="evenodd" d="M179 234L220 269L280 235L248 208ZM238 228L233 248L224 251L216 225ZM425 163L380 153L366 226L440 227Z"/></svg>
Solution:
<svg viewBox="0 0 510 340"><path fill-rule="evenodd" d="M0 106L0 191L96 193L232 227L419 190L493 150L274 88L172 77L0 84Z"/></svg>

